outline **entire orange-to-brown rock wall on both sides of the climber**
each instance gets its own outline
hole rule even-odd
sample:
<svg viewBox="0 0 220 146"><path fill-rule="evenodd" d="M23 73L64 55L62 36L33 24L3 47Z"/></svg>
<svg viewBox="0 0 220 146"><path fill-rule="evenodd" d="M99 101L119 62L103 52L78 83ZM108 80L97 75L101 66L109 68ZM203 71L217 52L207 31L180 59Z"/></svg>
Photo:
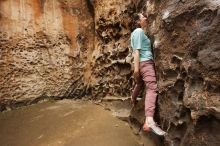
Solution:
<svg viewBox="0 0 220 146"><path fill-rule="evenodd" d="M217 146L219 5L219 0L1 0L0 102L130 96L131 15L143 12L154 45L165 145ZM139 105L131 117L141 123Z"/></svg>

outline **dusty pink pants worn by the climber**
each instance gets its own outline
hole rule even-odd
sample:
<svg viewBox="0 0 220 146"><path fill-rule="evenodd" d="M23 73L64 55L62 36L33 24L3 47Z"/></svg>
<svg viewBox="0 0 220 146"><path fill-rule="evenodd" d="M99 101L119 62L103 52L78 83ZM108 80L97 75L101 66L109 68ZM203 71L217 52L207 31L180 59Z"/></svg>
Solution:
<svg viewBox="0 0 220 146"><path fill-rule="evenodd" d="M135 84L132 99L136 100L139 92L146 86L145 95L145 115L153 117L155 112L155 102L157 98L157 81L154 69L154 62L152 60L140 62L140 79Z"/></svg>

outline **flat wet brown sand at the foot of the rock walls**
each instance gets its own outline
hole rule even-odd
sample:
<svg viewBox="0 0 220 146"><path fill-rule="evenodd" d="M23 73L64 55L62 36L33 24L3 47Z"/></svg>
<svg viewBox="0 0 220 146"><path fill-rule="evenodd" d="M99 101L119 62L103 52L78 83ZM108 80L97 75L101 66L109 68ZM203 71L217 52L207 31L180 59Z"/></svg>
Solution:
<svg viewBox="0 0 220 146"><path fill-rule="evenodd" d="M1 146L140 146L129 125L90 102L44 102L0 113ZM153 146L149 143L148 146Z"/></svg>

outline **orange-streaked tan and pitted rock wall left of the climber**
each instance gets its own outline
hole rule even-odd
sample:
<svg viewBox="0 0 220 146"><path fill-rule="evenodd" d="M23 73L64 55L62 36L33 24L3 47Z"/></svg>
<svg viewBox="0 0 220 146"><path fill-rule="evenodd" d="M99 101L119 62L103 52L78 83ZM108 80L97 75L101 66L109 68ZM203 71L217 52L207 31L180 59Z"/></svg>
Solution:
<svg viewBox="0 0 220 146"><path fill-rule="evenodd" d="M1 1L2 105L129 96L130 3Z"/></svg>

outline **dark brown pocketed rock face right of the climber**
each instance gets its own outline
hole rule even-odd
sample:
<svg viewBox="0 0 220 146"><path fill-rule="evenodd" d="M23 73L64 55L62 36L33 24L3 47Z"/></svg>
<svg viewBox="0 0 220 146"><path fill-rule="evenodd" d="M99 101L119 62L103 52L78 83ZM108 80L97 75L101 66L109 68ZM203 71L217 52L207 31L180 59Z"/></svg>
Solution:
<svg viewBox="0 0 220 146"><path fill-rule="evenodd" d="M217 0L149 0L142 7L154 40L165 145L220 145L219 6Z"/></svg>

